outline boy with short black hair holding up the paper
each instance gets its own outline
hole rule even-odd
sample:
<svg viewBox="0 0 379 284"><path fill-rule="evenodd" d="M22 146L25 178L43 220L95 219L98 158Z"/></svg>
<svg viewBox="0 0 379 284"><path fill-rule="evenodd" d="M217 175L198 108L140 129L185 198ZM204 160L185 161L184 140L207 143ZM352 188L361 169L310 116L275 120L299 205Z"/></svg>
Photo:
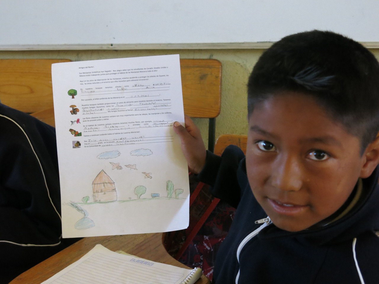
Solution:
<svg viewBox="0 0 379 284"><path fill-rule="evenodd" d="M263 53L247 92L246 157L206 152L189 118L174 123L189 170L237 208L214 281L379 283L374 56L332 32L294 34Z"/></svg>

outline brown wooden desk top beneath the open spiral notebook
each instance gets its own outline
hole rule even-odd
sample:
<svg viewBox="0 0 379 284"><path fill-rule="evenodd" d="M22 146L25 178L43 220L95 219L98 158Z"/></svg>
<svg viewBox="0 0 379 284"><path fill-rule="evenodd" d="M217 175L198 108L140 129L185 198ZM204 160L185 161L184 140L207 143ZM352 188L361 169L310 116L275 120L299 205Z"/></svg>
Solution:
<svg viewBox="0 0 379 284"><path fill-rule="evenodd" d="M9 284L41 284L41 282L55 275L55 273L60 272L63 268L80 259L80 257L98 243L112 251L122 250L155 262L188 268L172 258L164 249L162 233L86 237L30 268ZM210 284L210 281L202 275L196 284Z"/></svg>

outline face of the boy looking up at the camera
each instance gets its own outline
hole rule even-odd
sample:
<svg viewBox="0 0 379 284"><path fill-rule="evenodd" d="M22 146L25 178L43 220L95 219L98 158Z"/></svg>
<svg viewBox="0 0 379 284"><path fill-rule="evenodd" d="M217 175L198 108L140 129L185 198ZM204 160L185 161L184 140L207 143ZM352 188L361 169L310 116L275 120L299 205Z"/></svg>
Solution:
<svg viewBox="0 0 379 284"><path fill-rule="evenodd" d="M249 117L246 168L273 223L301 231L332 215L362 176L360 140L307 95L285 92Z"/></svg>

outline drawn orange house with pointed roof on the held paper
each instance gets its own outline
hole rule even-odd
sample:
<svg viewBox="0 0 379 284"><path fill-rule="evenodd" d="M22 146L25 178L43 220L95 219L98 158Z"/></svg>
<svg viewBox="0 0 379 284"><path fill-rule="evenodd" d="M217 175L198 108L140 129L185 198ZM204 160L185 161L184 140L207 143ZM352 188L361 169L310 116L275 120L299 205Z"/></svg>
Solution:
<svg viewBox="0 0 379 284"><path fill-rule="evenodd" d="M95 202L109 202L117 200L114 181L102 170L92 182Z"/></svg>

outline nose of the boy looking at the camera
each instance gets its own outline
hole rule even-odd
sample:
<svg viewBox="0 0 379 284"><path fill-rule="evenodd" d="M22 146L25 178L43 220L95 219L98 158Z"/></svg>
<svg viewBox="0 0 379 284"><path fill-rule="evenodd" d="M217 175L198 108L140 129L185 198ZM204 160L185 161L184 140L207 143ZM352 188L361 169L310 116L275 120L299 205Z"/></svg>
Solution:
<svg viewBox="0 0 379 284"><path fill-rule="evenodd" d="M296 157L280 156L273 164L271 184L280 190L297 191L302 187L301 165Z"/></svg>

